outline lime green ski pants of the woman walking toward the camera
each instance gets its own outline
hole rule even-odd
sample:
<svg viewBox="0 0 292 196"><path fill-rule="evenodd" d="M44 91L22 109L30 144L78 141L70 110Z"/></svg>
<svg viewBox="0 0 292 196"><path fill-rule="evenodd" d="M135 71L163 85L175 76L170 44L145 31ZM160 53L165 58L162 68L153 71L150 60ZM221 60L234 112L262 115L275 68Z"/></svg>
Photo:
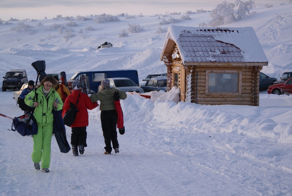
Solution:
<svg viewBox="0 0 292 196"><path fill-rule="evenodd" d="M36 135L33 135L34 147L31 159L35 163L41 162L41 168L49 168L53 123L37 123L37 125L38 132Z"/></svg>

